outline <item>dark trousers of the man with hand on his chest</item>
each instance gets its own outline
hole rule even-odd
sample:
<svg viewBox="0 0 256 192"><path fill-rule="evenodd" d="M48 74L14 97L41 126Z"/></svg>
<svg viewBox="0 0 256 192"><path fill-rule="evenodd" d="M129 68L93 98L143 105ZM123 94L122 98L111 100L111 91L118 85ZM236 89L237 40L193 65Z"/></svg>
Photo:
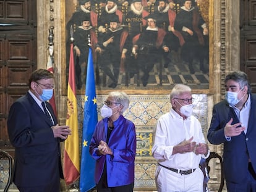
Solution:
<svg viewBox="0 0 256 192"><path fill-rule="evenodd" d="M247 177L239 183L226 182L229 192L256 192L256 173L252 164L248 165Z"/></svg>

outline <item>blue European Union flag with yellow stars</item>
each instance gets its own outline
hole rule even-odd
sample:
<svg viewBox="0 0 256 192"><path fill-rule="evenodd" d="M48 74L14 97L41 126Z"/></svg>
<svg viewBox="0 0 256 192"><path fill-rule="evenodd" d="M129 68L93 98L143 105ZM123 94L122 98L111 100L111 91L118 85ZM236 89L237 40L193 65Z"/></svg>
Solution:
<svg viewBox="0 0 256 192"><path fill-rule="evenodd" d="M98 122L97 99L95 91L95 78L93 68L92 48L89 48L87 63L87 78L85 86L85 105L83 110L83 137L80 165L80 191L91 190L95 186L94 171L95 160L90 156L89 144Z"/></svg>

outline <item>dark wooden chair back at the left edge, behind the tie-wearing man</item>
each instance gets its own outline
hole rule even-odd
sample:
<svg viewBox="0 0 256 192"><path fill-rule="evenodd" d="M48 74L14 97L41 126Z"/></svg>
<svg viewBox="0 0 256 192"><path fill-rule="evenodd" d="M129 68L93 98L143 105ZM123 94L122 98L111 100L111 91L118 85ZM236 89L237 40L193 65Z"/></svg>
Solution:
<svg viewBox="0 0 256 192"><path fill-rule="evenodd" d="M9 186L11 185L11 178L12 178L12 156L10 156L9 153L6 151L0 151L0 164L1 162L3 167L6 167L4 162L8 162L9 164L9 169L8 169L9 172L7 173L7 178L6 178L7 182L4 179L4 177L1 178L1 180L3 180L3 182L6 183L4 187L4 192L7 192L9 189Z"/></svg>

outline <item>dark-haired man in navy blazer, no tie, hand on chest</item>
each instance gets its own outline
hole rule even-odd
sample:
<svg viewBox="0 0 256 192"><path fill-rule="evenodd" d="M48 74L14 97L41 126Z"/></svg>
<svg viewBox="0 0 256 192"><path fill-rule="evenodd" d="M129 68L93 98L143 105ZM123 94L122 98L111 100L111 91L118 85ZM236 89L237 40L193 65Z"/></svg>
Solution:
<svg viewBox="0 0 256 192"><path fill-rule="evenodd" d="M228 191L256 191L256 96L244 72L229 73L224 83L226 99L213 107L207 138L211 144L224 143Z"/></svg>

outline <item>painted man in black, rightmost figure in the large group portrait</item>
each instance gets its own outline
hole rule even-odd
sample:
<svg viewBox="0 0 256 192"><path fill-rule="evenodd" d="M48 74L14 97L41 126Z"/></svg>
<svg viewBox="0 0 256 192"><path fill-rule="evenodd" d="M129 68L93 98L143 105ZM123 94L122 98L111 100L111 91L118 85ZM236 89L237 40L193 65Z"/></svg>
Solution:
<svg viewBox="0 0 256 192"><path fill-rule="evenodd" d="M203 61L207 58L209 31L198 7L193 6L193 1L183 0L183 6L175 19L174 29L180 31L184 38L181 58L189 64L190 73L195 73L193 61L196 59L200 62L200 70L207 73Z"/></svg>

